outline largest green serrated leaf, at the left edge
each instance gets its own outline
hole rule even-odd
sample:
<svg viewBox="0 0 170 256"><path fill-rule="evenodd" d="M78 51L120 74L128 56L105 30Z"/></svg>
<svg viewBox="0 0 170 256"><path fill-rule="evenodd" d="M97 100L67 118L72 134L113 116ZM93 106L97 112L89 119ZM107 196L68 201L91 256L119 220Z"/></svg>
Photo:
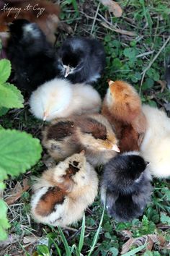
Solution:
<svg viewBox="0 0 170 256"><path fill-rule="evenodd" d="M0 173L19 175L40 159L40 140L26 132L1 129L0 141Z"/></svg>

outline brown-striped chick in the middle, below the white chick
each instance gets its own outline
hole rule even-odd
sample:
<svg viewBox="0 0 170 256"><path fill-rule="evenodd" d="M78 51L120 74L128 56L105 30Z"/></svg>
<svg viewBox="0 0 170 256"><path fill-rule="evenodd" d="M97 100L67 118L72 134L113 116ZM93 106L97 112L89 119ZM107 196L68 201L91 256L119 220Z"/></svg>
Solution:
<svg viewBox="0 0 170 256"><path fill-rule="evenodd" d="M107 163L116 152L120 152L115 132L100 114L57 119L45 128L42 135L42 145L56 161L84 149L87 161L98 166Z"/></svg>

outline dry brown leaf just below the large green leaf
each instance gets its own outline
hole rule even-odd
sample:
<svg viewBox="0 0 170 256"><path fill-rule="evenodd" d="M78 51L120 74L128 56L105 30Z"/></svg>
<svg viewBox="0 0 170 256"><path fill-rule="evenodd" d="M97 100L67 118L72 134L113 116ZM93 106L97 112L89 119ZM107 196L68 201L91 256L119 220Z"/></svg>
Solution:
<svg viewBox="0 0 170 256"><path fill-rule="evenodd" d="M14 189L12 189L12 191L9 192L9 195L5 200L5 202L8 205L12 205L14 202L19 200L19 198L22 196L22 193L27 191L27 189L30 188L30 185L28 184L28 179L23 179L22 184L23 185L21 185L19 182L17 182Z"/></svg>

